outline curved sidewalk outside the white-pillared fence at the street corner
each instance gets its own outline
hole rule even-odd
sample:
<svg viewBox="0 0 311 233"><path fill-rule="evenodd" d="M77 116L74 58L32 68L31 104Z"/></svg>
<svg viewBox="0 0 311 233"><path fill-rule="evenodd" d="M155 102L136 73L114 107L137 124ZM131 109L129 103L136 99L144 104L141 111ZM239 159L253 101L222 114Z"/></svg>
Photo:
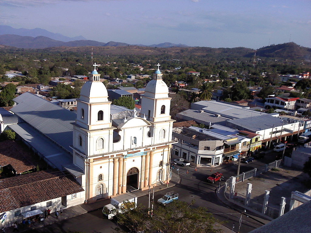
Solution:
<svg viewBox="0 0 311 233"><path fill-rule="evenodd" d="M217 188L215 190L216 196L220 200L220 202L222 202L223 204L225 204L228 208L230 208L232 210L235 210L237 212L243 212L246 207L238 206L238 205L235 205L234 203L230 202L227 199L227 197L225 197L224 190L225 190L225 185L222 185L222 186L220 186L220 188ZM260 222L262 224L267 224L268 222L270 222L269 220L263 219L262 217L255 215L254 213L252 213L250 211L247 211L247 214L245 214L245 215L247 215L248 217L250 217L250 218L254 219L255 221Z"/></svg>

